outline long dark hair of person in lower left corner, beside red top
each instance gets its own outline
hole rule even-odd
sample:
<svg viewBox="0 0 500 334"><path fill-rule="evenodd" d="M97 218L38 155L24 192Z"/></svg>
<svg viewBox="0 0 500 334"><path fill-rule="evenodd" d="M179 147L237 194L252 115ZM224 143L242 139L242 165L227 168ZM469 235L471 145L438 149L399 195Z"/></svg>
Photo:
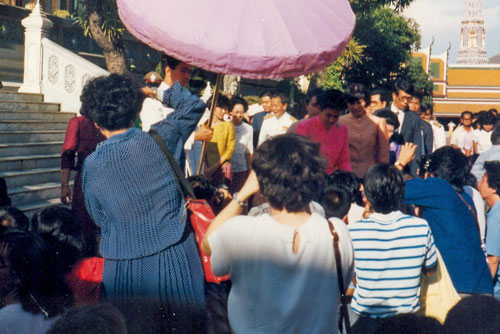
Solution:
<svg viewBox="0 0 500 334"><path fill-rule="evenodd" d="M52 318L73 304L73 294L57 264L60 242L52 236L29 231L4 234L10 239L7 255L11 273L18 280L19 301L23 309Z"/></svg>

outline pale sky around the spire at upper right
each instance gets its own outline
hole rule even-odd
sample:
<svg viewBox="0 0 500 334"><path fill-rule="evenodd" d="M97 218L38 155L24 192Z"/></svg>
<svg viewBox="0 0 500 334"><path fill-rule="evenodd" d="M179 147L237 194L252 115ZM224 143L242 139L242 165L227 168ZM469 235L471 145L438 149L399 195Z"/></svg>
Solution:
<svg viewBox="0 0 500 334"><path fill-rule="evenodd" d="M450 64L458 57L460 22L464 16L464 0L413 0L403 15L414 19L420 26L421 48L432 42L433 54L446 51L451 42ZM483 0L483 18L486 29L488 58L500 53L500 1Z"/></svg>

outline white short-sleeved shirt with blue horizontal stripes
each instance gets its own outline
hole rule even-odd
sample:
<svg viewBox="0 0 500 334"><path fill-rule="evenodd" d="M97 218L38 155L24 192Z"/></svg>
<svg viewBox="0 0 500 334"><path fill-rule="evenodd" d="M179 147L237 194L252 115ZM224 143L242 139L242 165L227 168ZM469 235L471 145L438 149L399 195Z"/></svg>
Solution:
<svg viewBox="0 0 500 334"><path fill-rule="evenodd" d="M422 268L437 263L427 221L400 211L374 213L349 230L357 278L353 311L370 318L417 311Z"/></svg>

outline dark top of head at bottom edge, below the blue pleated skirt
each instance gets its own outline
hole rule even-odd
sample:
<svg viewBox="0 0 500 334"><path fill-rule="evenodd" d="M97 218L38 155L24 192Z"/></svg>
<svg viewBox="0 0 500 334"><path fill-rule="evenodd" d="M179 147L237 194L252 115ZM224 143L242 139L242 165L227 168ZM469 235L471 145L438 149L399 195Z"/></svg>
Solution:
<svg viewBox="0 0 500 334"><path fill-rule="evenodd" d="M64 312L46 334L127 334L127 326L117 308L95 304Z"/></svg>

